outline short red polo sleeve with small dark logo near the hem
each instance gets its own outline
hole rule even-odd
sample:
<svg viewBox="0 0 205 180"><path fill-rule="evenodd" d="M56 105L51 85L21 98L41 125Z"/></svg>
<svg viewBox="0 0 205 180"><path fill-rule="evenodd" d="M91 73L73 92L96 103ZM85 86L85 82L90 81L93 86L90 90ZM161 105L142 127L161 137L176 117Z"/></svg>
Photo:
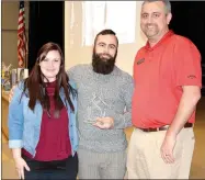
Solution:
<svg viewBox="0 0 205 180"><path fill-rule="evenodd" d="M198 86L202 88L201 54L196 46L184 38L175 44L173 53L176 87Z"/></svg>

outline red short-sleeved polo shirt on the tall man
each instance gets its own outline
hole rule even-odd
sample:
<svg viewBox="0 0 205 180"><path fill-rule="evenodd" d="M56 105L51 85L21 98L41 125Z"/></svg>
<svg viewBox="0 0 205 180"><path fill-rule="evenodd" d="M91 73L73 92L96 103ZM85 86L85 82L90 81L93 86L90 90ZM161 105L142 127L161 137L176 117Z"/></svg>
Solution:
<svg viewBox="0 0 205 180"><path fill-rule="evenodd" d="M183 93L182 86L202 87L200 52L190 40L169 31L153 47L147 43L138 50L134 79L134 126L171 124ZM189 122L195 122L195 112Z"/></svg>

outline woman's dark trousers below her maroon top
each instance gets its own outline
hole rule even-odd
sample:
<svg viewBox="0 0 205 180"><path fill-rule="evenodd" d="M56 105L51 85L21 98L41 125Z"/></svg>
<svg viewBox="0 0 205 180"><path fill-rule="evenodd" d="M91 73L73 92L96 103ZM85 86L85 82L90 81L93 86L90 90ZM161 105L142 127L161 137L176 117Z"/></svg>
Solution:
<svg viewBox="0 0 205 180"><path fill-rule="evenodd" d="M22 156L30 167L30 171L24 170L25 179L60 180L77 179L78 155L69 156L64 160L37 161Z"/></svg>

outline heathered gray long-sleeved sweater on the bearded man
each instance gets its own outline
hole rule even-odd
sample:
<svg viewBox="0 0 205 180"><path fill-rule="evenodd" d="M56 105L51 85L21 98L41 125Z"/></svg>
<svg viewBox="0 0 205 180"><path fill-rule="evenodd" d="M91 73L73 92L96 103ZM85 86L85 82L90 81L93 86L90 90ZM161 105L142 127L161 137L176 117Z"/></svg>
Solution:
<svg viewBox="0 0 205 180"><path fill-rule="evenodd" d="M132 76L116 66L110 75L96 74L92 65L75 66L68 76L78 90L79 148L98 153L126 149L124 128L132 126ZM92 125L102 116L113 117L114 128L100 130Z"/></svg>

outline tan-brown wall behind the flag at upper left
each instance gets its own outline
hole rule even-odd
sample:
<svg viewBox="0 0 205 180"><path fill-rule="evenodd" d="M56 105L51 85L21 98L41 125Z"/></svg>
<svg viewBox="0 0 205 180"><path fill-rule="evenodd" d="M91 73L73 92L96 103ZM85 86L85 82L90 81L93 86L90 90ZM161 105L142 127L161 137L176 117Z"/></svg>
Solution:
<svg viewBox="0 0 205 180"><path fill-rule="evenodd" d="M1 2L1 33L2 33L2 61L5 65L12 64L12 68L18 67L18 19L19 1ZM29 2L25 5L25 29L29 40Z"/></svg>

